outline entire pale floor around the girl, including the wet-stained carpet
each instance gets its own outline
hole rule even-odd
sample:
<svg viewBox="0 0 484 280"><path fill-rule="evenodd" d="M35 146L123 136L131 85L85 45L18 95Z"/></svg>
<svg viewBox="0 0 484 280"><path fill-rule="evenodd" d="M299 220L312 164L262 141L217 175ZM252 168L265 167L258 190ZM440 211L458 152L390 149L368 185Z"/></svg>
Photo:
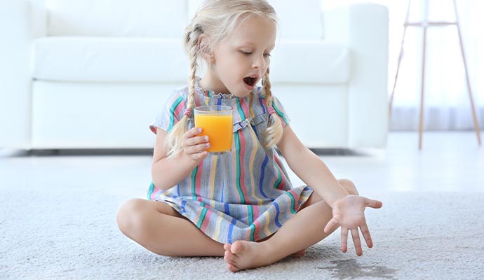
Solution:
<svg viewBox="0 0 484 280"><path fill-rule="evenodd" d="M481 279L484 148L470 132L426 132L422 151L417 141L391 133L385 150L318 151L384 202L365 211L375 246L363 257L330 235L302 259L237 274L222 258L162 257L121 235L114 217L144 197L149 151L0 150L0 279Z"/></svg>

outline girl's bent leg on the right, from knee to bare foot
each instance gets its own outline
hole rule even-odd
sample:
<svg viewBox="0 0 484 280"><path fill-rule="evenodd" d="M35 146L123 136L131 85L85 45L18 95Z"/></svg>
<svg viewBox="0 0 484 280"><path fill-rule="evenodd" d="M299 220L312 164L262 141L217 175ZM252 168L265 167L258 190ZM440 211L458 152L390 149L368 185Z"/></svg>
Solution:
<svg viewBox="0 0 484 280"><path fill-rule="evenodd" d="M351 195L358 195L354 183L349 180L339 180ZM232 272L241 269L271 265L286 256L302 251L330 235L324 232L324 227L332 218L331 207L313 193L304 207L297 211L278 232L263 242L235 241L225 244L224 260Z"/></svg>

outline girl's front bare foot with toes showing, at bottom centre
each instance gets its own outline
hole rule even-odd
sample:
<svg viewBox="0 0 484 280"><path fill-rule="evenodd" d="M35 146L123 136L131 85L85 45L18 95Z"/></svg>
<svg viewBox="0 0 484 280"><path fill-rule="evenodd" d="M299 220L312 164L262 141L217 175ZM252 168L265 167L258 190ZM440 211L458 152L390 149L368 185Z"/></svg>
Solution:
<svg viewBox="0 0 484 280"><path fill-rule="evenodd" d="M263 267L278 261L264 243L235 241L234 244L225 244L224 249L224 260L231 272Z"/></svg>

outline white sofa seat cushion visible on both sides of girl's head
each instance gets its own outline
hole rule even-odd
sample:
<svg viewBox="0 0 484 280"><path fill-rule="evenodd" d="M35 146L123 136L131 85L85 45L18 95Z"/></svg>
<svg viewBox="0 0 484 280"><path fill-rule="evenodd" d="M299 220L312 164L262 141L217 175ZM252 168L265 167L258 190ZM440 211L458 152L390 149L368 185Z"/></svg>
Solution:
<svg viewBox="0 0 484 280"><path fill-rule="evenodd" d="M272 52L271 81L347 83L350 60L342 45L281 40ZM184 82L188 65L182 42L175 39L46 37L32 46L36 80Z"/></svg>

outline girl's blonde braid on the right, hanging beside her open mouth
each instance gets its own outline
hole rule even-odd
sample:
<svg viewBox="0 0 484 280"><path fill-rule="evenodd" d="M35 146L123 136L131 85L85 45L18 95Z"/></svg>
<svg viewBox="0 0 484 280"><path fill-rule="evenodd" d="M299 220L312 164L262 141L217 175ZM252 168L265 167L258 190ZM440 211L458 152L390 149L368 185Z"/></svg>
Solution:
<svg viewBox="0 0 484 280"><path fill-rule="evenodd" d="M264 78L262 79L262 87L264 90L264 98L266 99L266 105L268 107L272 106L272 92L271 92L271 82L269 80L269 68L267 68L266 73L264 73ZM271 113L269 116L269 125L267 126L266 148L271 148L281 141L283 135L283 127L281 123L281 118L277 113Z"/></svg>

